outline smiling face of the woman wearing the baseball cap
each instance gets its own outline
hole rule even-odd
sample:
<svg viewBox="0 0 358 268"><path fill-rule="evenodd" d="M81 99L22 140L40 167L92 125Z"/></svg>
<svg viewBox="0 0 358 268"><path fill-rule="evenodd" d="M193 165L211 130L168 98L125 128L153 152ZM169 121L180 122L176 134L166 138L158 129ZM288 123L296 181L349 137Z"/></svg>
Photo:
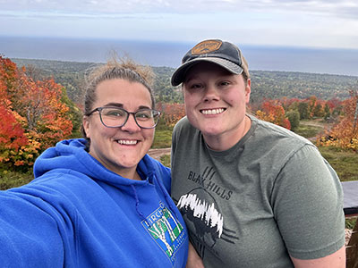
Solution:
<svg viewBox="0 0 358 268"><path fill-rule="evenodd" d="M242 138L250 86L243 75L214 63L198 63L188 71L183 82L185 112L209 146L210 141L221 140L222 148L230 147Z"/></svg>

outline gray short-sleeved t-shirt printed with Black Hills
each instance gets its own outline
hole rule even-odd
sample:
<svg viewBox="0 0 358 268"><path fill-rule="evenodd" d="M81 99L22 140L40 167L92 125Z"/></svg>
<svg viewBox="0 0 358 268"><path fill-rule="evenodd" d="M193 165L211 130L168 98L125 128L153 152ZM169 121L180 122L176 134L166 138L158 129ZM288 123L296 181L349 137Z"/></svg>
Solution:
<svg viewBox="0 0 358 268"><path fill-rule="evenodd" d="M294 267L345 243L343 191L318 149L251 117L251 129L217 152L183 118L172 147L172 197L209 267Z"/></svg>

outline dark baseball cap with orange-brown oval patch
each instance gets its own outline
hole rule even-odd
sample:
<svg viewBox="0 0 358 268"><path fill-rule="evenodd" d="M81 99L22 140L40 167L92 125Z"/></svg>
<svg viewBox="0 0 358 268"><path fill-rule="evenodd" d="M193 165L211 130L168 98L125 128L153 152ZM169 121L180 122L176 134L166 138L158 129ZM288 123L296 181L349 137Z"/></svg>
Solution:
<svg viewBox="0 0 358 268"><path fill-rule="evenodd" d="M232 43L219 39L204 40L192 47L184 56L182 65L172 75L172 85L183 83L187 71L200 62L216 63L233 74L245 73L249 78L249 66L241 50Z"/></svg>

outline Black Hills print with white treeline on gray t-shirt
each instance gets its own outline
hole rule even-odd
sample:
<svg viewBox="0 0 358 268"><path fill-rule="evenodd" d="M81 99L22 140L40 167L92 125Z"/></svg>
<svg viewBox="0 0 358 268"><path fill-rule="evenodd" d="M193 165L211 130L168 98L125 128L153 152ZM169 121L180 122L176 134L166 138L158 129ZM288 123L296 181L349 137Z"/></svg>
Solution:
<svg viewBox="0 0 358 268"><path fill-rule="evenodd" d="M201 245L198 245L197 249L201 257L204 257L205 248L217 255L217 239L230 244L234 244L238 239L234 230L224 227L225 218L217 204L217 201L221 204L227 202L233 192L219 186L215 181L215 174L213 167L206 167L201 174L190 171L187 179L194 181L199 187L193 188L177 200L177 207L183 214L188 228L192 229L199 239Z"/></svg>

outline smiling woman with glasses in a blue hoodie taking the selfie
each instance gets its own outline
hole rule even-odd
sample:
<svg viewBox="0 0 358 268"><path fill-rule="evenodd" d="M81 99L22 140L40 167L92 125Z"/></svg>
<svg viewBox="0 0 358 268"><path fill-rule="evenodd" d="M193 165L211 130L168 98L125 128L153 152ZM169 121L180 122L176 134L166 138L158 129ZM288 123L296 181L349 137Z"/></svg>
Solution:
<svg viewBox="0 0 358 268"><path fill-rule="evenodd" d="M85 138L40 155L0 192L0 267L184 267L188 235L170 171L146 155L160 113L134 63L92 72Z"/></svg>

